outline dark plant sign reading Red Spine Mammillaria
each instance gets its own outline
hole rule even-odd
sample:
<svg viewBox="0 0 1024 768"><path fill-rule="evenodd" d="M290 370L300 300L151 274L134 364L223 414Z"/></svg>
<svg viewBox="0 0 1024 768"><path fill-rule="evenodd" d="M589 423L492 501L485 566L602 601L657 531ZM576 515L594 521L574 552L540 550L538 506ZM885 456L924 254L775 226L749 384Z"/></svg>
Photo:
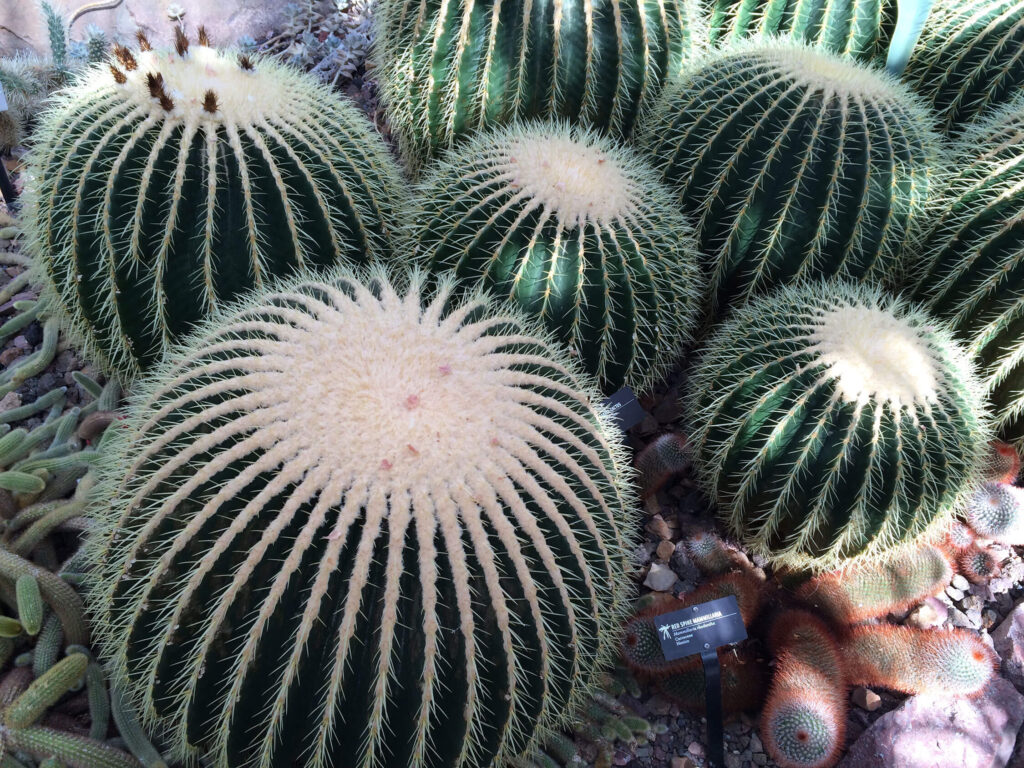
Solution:
<svg viewBox="0 0 1024 768"><path fill-rule="evenodd" d="M672 662L746 639L746 628L733 595L654 617L662 652Z"/></svg>

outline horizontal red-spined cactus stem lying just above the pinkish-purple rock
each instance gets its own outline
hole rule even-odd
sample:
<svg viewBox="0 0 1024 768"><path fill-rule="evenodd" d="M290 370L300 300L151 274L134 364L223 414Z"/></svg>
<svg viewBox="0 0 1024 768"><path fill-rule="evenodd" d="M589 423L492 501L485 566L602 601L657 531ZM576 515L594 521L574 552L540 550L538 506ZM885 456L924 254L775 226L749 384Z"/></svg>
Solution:
<svg viewBox="0 0 1024 768"><path fill-rule="evenodd" d="M841 650L852 685L911 694L977 695L997 665L995 652L976 634L964 630L855 627Z"/></svg>

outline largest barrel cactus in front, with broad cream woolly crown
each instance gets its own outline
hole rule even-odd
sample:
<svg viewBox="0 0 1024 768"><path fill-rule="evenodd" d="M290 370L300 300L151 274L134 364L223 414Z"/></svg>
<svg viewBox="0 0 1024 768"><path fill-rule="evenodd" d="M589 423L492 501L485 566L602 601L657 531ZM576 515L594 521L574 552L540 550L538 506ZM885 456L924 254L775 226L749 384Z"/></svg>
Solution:
<svg viewBox="0 0 1024 768"><path fill-rule="evenodd" d="M615 652L621 435L560 346L453 295L293 278L140 380L91 508L88 603L176 758L492 765Z"/></svg>

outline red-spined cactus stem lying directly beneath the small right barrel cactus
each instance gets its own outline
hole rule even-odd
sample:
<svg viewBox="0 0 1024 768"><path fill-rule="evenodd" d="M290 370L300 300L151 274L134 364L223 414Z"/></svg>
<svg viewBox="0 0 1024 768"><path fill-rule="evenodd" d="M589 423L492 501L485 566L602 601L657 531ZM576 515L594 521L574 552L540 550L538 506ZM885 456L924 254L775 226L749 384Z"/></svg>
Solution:
<svg viewBox="0 0 1024 768"><path fill-rule="evenodd" d="M865 562L822 573L801 586L798 597L839 624L899 613L946 588L953 570L946 554L911 545L883 562Z"/></svg>

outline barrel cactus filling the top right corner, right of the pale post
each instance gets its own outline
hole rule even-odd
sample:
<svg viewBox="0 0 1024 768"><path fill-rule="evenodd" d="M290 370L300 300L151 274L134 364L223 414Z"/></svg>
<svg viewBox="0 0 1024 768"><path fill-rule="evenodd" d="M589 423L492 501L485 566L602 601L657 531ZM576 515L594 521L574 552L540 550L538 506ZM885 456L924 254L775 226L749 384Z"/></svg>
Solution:
<svg viewBox="0 0 1024 768"><path fill-rule="evenodd" d="M1024 86L1024 0L936 0L903 79L956 133Z"/></svg>

